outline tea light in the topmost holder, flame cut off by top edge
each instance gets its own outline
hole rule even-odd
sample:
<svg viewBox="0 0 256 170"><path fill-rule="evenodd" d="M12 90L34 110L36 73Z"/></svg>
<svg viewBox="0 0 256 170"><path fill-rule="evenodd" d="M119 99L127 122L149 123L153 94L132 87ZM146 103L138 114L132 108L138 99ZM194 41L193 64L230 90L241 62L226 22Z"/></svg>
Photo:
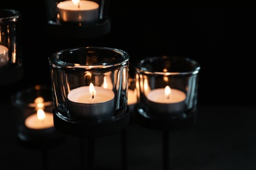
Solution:
<svg viewBox="0 0 256 170"><path fill-rule="evenodd" d="M63 22L92 23L98 20L98 3L94 1L62 1L57 4L59 19Z"/></svg>

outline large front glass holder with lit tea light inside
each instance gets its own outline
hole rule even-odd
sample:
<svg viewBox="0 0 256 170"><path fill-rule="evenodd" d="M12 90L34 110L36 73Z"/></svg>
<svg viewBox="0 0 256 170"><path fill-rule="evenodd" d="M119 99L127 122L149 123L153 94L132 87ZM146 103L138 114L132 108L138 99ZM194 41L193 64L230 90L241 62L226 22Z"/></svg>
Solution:
<svg viewBox="0 0 256 170"><path fill-rule="evenodd" d="M49 57L58 118L108 122L127 112L129 55L106 47L65 49Z"/></svg>

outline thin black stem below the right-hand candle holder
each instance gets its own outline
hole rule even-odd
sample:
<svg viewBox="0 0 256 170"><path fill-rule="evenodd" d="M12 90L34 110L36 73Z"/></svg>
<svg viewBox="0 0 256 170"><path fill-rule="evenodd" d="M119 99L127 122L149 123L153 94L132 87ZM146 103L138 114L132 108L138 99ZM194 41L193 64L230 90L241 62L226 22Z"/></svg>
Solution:
<svg viewBox="0 0 256 170"><path fill-rule="evenodd" d="M169 170L169 131L163 131L163 170Z"/></svg>

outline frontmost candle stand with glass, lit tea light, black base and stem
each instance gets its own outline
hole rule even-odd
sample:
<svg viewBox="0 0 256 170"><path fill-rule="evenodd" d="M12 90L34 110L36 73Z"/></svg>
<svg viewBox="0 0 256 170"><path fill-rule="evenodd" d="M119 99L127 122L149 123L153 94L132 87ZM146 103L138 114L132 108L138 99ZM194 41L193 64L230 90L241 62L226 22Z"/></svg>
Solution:
<svg viewBox="0 0 256 170"><path fill-rule="evenodd" d="M81 169L93 170L95 137L129 124L129 55L123 50L88 46L65 49L49 58L54 126L80 138ZM126 166L123 146L123 166Z"/></svg>

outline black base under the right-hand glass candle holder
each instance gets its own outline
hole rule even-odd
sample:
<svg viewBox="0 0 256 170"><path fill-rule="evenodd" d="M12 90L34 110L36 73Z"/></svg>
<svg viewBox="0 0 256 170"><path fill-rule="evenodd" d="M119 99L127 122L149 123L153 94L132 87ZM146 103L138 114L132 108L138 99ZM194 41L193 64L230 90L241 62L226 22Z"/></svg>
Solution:
<svg viewBox="0 0 256 170"><path fill-rule="evenodd" d="M173 131L178 129L185 129L187 127L192 126L196 122L196 115L198 110L196 109L194 112L190 114L186 114L183 118L160 118L160 117L148 117L143 114L143 112L139 112L138 110L135 112L136 121L149 129L161 130L161 131Z"/></svg>

